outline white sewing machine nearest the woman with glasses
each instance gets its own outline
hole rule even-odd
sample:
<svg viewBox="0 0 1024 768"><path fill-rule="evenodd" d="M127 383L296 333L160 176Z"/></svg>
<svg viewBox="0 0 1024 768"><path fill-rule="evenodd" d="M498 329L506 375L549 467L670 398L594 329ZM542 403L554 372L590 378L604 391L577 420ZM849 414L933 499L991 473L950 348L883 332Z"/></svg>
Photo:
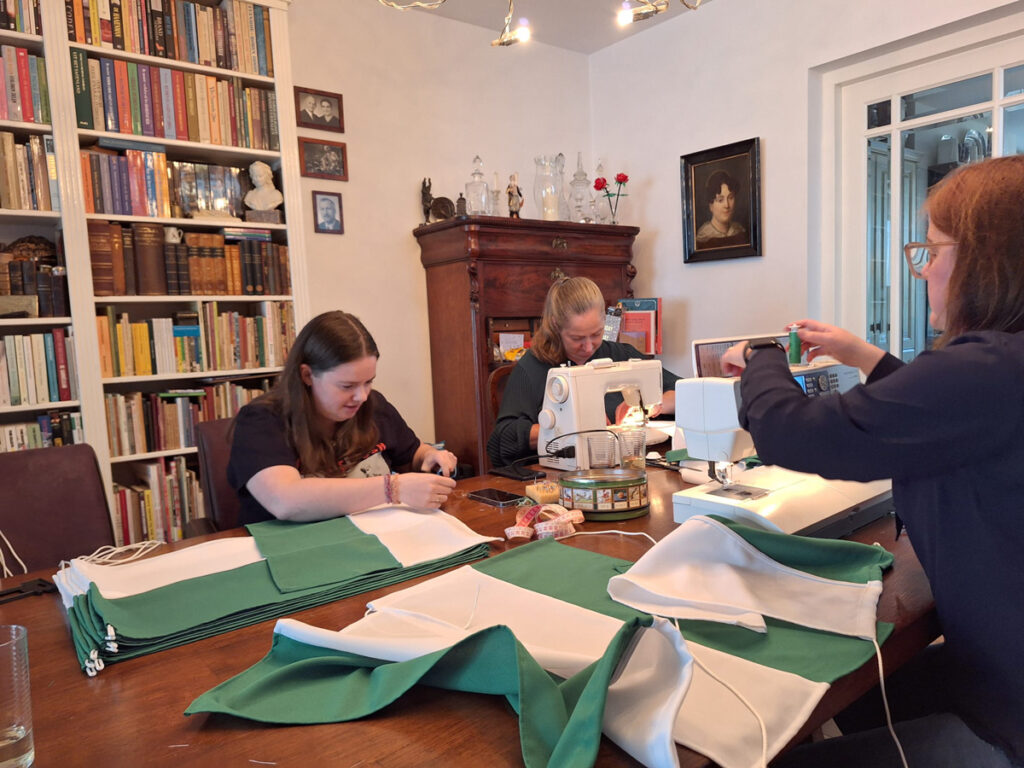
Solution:
<svg viewBox="0 0 1024 768"><path fill-rule="evenodd" d="M839 364L794 366L793 371L810 396L846 391L840 381L846 389L853 386L849 368ZM676 522L696 514L719 514L769 530L835 538L892 509L889 480L826 480L767 465L744 469L740 462L754 456L755 446L750 432L739 426L739 404L738 378L676 383L677 432L681 431L691 460L715 463L716 477L673 494Z"/></svg>

